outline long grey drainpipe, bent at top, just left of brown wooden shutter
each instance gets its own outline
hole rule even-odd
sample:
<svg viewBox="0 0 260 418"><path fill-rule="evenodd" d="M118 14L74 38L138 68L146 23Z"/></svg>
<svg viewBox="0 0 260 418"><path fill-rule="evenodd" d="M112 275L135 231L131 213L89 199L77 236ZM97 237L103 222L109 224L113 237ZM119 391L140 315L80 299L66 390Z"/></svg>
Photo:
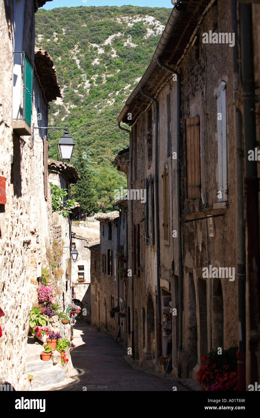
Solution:
<svg viewBox="0 0 260 418"><path fill-rule="evenodd" d="M182 351L183 339L183 271L182 271L182 226L181 226L181 168L180 168L180 131L181 131L181 78L177 71L164 65L157 58L157 64L177 75L177 211L178 211L178 252L179 252L179 352Z"/></svg>

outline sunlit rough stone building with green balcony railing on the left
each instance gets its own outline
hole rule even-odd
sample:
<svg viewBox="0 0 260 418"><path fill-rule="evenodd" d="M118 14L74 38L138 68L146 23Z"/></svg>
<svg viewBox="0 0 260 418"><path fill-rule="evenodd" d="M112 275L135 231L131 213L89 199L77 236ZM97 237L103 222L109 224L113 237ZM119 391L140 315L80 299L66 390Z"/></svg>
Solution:
<svg viewBox="0 0 260 418"><path fill-rule="evenodd" d="M34 14L45 3L5 0L0 5L0 378L15 390L28 389L30 291L46 260L51 215L45 132L39 135L33 124L46 126L48 101L61 97L52 60L35 51ZM39 61L48 67L44 74Z"/></svg>

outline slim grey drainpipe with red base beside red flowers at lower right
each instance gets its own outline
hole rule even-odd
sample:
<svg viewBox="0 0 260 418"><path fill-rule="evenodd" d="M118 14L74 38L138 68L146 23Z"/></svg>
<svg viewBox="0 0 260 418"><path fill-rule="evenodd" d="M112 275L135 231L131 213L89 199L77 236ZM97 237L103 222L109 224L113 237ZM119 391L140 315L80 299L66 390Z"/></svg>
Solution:
<svg viewBox="0 0 260 418"><path fill-rule="evenodd" d="M242 153L242 115L237 108L237 93L240 83L238 62L237 36L237 2L230 0L231 28L235 33L233 52L233 91L234 91L234 124L236 147L236 222L237 222L237 281L238 281L238 390L245 390L245 220L244 220L244 189L243 189L243 153Z"/></svg>

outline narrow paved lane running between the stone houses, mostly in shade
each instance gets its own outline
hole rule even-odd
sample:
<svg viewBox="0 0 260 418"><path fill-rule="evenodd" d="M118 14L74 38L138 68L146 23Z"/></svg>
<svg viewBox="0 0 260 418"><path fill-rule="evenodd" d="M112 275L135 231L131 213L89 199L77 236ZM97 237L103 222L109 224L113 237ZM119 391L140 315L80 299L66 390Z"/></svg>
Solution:
<svg viewBox="0 0 260 418"><path fill-rule="evenodd" d="M141 369L132 369L122 357L126 350L102 332L91 326L76 324L71 351L73 366L83 370L78 381L59 390L70 391L189 391L177 379L154 375Z"/></svg>

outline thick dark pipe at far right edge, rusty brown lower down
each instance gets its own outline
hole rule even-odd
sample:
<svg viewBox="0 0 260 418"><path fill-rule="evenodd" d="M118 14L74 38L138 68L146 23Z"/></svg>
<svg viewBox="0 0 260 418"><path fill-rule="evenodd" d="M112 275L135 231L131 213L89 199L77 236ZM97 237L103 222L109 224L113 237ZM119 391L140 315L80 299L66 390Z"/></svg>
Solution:
<svg viewBox="0 0 260 418"><path fill-rule="evenodd" d="M255 80L254 80L254 51L252 36L252 5L240 4L240 50L242 69L242 100L244 126L244 158L245 158L245 202L247 217L247 265L248 299L250 306L249 346L250 364L249 383L259 379L257 365L257 346L260 340L259 307L260 307L260 278L259 278L259 206L257 178L257 161L248 160L248 151L255 150Z"/></svg>

